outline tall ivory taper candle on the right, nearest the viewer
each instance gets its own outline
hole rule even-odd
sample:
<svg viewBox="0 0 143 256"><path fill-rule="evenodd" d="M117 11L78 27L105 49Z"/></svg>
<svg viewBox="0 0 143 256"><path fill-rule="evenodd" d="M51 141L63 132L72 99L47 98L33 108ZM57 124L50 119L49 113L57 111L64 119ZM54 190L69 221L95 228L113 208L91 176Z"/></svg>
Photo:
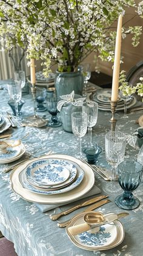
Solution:
<svg viewBox="0 0 143 256"><path fill-rule="evenodd" d="M119 15L117 34L116 34L115 61L114 61L114 68L113 68L111 102L116 102L118 99L119 69L120 69L120 57L121 57L121 38L122 38L122 15Z"/></svg>

